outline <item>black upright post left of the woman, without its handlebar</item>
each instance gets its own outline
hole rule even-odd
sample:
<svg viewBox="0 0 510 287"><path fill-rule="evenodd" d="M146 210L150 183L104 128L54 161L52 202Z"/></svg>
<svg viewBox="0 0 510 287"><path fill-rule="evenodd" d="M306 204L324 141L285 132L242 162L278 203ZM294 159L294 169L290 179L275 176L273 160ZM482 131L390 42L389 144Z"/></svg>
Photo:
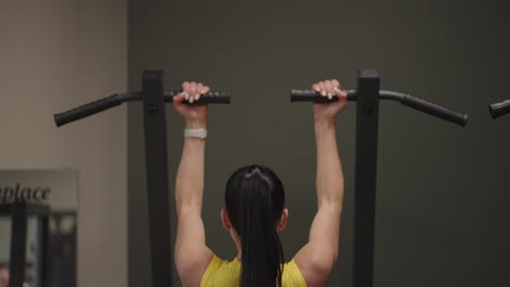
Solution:
<svg viewBox="0 0 510 287"><path fill-rule="evenodd" d="M153 286L171 286L172 254L162 71L144 71L142 86Z"/></svg>

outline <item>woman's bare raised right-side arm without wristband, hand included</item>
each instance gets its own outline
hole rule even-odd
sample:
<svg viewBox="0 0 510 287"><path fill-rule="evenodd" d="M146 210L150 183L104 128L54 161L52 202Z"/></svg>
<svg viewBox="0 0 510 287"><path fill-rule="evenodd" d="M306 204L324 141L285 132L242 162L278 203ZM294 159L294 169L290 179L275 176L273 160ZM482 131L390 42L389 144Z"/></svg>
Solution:
<svg viewBox="0 0 510 287"><path fill-rule="evenodd" d="M347 105L347 95L340 90L340 83L336 79L315 84L313 89L324 97L339 97L340 100L314 104L318 210L312 223L308 244L294 258L308 287L327 285L338 257L344 184L335 118Z"/></svg>

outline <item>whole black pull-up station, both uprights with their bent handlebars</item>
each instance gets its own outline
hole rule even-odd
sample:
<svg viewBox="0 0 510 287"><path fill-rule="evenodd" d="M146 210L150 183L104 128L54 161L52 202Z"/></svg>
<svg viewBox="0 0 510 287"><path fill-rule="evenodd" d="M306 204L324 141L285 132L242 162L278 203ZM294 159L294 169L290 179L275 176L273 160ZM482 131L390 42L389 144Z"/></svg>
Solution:
<svg viewBox="0 0 510 287"><path fill-rule="evenodd" d="M144 71L142 86L142 92L116 93L54 114L54 122L57 126L61 126L126 101L143 101L153 286L171 286L170 259L172 257L169 246L170 212L168 208L165 102L171 102L172 97L180 91L163 91L162 71ZM348 90L348 93L349 100L357 101L354 286L371 287L373 283L379 99L397 100L402 104L462 126L466 124L467 115L409 95L380 91L379 74L375 70L360 71L357 90ZM328 101L313 90L293 90L291 100ZM210 91L193 104L199 103L230 103L230 92Z"/></svg>

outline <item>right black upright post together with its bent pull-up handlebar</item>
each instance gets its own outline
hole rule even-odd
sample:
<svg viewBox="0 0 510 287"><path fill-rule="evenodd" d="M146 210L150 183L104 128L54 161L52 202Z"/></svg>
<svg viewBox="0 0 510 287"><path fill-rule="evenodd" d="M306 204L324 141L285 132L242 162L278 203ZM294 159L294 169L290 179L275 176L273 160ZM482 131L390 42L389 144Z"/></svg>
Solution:
<svg viewBox="0 0 510 287"><path fill-rule="evenodd" d="M380 76L376 70L360 70L357 90L344 90L348 101L356 105L356 160L354 185L354 261L353 286L374 285L374 242L376 220L377 139L379 100L399 101L418 111L465 126L467 114L428 102L410 95L379 90ZM315 90L291 90L291 101L330 102Z"/></svg>

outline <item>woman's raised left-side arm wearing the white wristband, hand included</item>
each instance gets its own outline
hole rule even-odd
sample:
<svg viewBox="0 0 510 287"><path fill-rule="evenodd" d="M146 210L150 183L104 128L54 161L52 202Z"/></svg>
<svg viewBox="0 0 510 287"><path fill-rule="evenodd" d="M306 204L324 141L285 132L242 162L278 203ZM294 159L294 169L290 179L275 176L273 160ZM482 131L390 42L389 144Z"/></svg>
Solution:
<svg viewBox="0 0 510 287"><path fill-rule="evenodd" d="M201 83L183 83L183 93L173 98L175 110L184 117L186 129L206 129L208 107L187 105L209 90ZM199 286L202 275L212 259L206 247L202 200L204 194L205 139L186 137L175 179L178 232L174 260L183 286ZM170 271L169 271L170 272Z"/></svg>

